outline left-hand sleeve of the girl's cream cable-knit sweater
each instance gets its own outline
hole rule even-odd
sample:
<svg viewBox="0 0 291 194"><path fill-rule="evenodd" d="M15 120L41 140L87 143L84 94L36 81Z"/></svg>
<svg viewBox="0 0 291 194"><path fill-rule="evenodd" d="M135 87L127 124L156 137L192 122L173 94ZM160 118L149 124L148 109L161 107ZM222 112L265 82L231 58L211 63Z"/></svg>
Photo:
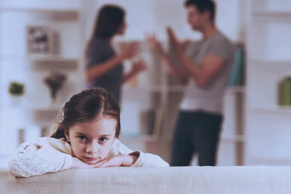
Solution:
<svg viewBox="0 0 291 194"><path fill-rule="evenodd" d="M7 167L13 176L31 177L69 169L72 162L71 155L56 150L47 139L38 138L21 144L8 158Z"/></svg>

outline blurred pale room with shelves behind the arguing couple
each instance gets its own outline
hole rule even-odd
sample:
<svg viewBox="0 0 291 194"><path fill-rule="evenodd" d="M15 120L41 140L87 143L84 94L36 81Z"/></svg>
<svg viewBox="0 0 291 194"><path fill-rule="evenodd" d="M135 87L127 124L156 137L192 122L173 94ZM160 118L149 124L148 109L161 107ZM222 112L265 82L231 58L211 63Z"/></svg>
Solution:
<svg viewBox="0 0 291 194"><path fill-rule="evenodd" d="M71 95L84 89L83 52L105 3L127 10L128 29L148 69L123 85L121 141L169 162L178 105L175 83L145 41L166 26L197 40L184 0L0 0L0 167L26 141L40 137ZM237 46L225 91L219 166L291 164L291 0L216 0L216 24ZM49 36L43 45L32 39ZM37 54L38 50L45 50ZM129 63L125 63L129 69ZM57 80L57 81L56 81ZM193 159L195 165L195 158Z"/></svg>

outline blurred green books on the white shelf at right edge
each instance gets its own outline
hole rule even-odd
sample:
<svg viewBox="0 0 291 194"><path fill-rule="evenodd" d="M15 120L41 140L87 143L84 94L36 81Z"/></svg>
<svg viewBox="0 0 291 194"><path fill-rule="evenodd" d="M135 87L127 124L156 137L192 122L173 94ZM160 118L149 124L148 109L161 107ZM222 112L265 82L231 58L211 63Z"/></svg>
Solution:
<svg viewBox="0 0 291 194"><path fill-rule="evenodd" d="M278 84L278 105L291 107L291 78L286 78Z"/></svg>

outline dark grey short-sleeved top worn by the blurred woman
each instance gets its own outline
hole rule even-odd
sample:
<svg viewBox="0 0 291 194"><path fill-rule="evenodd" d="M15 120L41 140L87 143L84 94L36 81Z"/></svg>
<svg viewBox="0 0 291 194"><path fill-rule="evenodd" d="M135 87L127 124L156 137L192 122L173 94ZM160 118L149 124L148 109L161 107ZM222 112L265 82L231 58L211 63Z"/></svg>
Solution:
<svg viewBox="0 0 291 194"><path fill-rule="evenodd" d="M100 65L115 56L115 51L108 39L95 38L89 45L88 60L86 68L93 65ZM118 64L96 80L87 83L86 87L102 87L110 92L120 104L120 90L122 84L123 65Z"/></svg>

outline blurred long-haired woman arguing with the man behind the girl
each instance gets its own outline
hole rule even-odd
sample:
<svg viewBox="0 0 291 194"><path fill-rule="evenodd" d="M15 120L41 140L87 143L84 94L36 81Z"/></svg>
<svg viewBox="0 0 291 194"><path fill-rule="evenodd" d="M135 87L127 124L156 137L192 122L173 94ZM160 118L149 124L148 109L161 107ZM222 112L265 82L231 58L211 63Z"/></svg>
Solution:
<svg viewBox="0 0 291 194"><path fill-rule="evenodd" d="M85 51L87 87L102 87L120 104L121 85L146 69L144 60L135 61L124 73L122 62L139 53L137 43L129 43L119 53L113 50L113 38L126 31L125 10L116 5L104 5L98 12L91 38Z"/></svg>

